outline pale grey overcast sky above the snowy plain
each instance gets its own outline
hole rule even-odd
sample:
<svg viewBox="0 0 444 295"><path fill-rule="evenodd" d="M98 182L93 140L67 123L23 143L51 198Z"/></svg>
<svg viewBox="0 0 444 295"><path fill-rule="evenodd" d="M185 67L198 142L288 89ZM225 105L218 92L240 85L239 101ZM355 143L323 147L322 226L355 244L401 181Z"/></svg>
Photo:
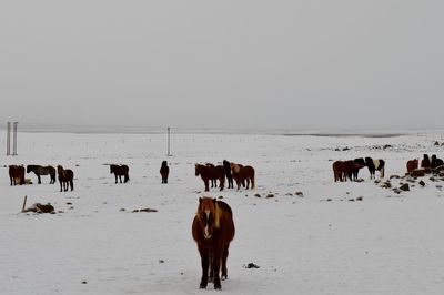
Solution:
<svg viewBox="0 0 444 295"><path fill-rule="evenodd" d="M0 118L444 126L444 1L3 1Z"/></svg>

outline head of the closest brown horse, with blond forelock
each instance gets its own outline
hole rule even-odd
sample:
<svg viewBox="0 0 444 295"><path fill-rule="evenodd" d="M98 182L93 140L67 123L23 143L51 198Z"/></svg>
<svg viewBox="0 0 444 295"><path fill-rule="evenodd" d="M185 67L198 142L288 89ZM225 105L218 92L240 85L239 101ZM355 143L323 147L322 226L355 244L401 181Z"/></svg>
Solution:
<svg viewBox="0 0 444 295"><path fill-rule="evenodd" d="M214 228L220 227L218 201L208 196L200 197L196 215L203 230L203 237L210 240Z"/></svg>

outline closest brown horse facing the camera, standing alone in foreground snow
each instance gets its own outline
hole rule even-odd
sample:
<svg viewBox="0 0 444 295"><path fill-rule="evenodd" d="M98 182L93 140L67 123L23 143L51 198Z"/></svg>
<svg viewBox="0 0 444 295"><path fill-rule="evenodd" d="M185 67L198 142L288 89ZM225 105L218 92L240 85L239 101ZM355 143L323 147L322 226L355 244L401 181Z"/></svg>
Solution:
<svg viewBox="0 0 444 295"><path fill-rule="evenodd" d="M211 197L199 199L192 235L201 256L201 288L206 288L209 276L213 278L215 289L222 288L221 278L228 278L226 258L234 232L233 213L229 204Z"/></svg>

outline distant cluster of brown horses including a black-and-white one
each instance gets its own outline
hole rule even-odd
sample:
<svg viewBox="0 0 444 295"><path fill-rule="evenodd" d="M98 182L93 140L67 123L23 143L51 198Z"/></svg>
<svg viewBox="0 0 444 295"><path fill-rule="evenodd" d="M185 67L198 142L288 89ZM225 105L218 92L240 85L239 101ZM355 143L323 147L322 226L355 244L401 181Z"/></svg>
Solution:
<svg viewBox="0 0 444 295"><path fill-rule="evenodd" d="M333 176L334 181L344 182L347 179L350 181L356 181L360 169L367 167L370 172L370 179L375 177L375 172L380 172L380 177L384 177L385 161L382 159L373 160L367 156L365 159L359 157L355 160L347 161L335 161L333 162Z"/></svg>

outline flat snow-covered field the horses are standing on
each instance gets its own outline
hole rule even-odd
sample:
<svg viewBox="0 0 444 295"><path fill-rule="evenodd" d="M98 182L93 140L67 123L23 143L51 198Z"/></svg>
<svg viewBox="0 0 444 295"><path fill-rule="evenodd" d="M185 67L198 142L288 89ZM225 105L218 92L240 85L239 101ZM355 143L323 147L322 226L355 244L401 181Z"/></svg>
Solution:
<svg viewBox="0 0 444 295"><path fill-rule="evenodd" d="M443 140L437 131L173 134L168 157L164 134L20 133L19 155L0 156L0 294L214 293L212 284L199 289L191 237L202 195L233 208L224 294L443 294L444 182L426 176L424 187L396 194L366 169L361 183L334 183L331 169L333 160L372 156L386 161L385 179L402 176L410 159L444 157L434 145ZM204 193L194 163L224 159L253 165L256 189ZM161 184L163 160L169 184ZM105 163L128 164L130 182L114 184ZM74 171L74 191L59 192L49 176L37 184L34 174L27 174L34 184L10 186L9 164L62 164ZM24 195L28 205L51 202L62 213L19 213ZM158 212L132 213L144 207Z"/></svg>

